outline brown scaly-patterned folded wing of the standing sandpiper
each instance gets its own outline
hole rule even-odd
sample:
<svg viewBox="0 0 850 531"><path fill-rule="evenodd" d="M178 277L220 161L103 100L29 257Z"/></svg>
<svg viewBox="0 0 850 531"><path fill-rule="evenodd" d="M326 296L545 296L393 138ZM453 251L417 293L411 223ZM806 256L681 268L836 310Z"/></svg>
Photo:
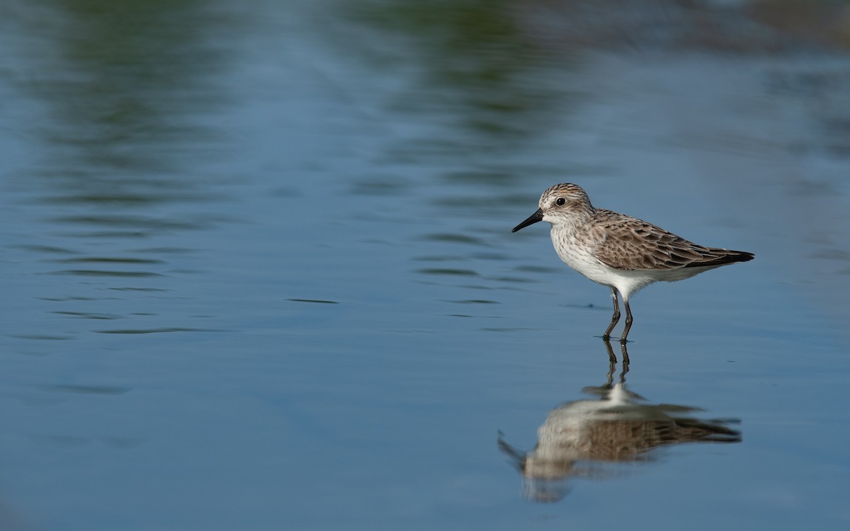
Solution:
<svg viewBox="0 0 850 531"><path fill-rule="evenodd" d="M652 223L602 208L593 217L592 238L599 242L593 254L610 268L711 267L752 258L747 252L700 246Z"/></svg>

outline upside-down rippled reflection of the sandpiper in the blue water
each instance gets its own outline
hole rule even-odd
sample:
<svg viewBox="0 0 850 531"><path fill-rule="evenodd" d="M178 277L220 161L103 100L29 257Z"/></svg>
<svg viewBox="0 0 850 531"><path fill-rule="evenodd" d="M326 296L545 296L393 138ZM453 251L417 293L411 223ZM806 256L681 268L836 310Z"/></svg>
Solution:
<svg viewBox="0 0 850 531"><path fill-rule="evenodd" d="M649 404L626 389L628 353L623 354L619 381L615 354L605 342L609 371L603 386L583 391L597 399L576 400L552 410L537 431L537 445L524 453L499 434L499 449L509 455L523 476L524 494L537 501L557 501L569 491L571 477L608 478L625 472L616 463L651 461L654 449L679 443L739 443L741 434L728 427L736 419L700 420L693 408Z"/></svg>

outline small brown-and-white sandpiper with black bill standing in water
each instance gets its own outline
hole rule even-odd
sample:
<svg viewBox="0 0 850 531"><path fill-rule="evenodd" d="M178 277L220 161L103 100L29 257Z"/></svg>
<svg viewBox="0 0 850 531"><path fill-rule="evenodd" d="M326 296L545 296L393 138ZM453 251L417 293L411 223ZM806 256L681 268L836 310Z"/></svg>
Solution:
<svg viewBox="0 0 850 531"><path fill-rule="evenodd" d="M689 279L703 271L755 257L751 252L700 246L637 217L595 208L576 184L555 184L547 189L537 212L511 232L538 221L552 223L552 243L564 263L610 288L614 315L602 336L605 340L620 321L620 293L626 305L621 343L626 342L632 328L629 297L636 291L659 280Z"/></svg>

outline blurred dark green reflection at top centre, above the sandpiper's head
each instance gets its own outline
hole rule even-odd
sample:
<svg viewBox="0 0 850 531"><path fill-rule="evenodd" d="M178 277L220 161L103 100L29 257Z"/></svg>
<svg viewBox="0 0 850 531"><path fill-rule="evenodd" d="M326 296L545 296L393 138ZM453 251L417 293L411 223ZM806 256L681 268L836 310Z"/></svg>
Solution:
<svg viewBox="0 0 850 531"><path fill-rule="evenodd" d="M564 95L541 76L543 51L517 24L508 0L374 0L355 16L407 37L427 94L405 98L406 110L449 107L475 133L515 137L536 133ZM446 90L448 89L448 90Z"/></svg>

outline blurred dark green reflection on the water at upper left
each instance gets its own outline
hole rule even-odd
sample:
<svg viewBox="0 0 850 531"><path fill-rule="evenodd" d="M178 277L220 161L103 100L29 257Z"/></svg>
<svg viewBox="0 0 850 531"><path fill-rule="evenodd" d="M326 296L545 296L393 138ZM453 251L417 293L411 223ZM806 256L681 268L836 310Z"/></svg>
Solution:
<svg viewBox="0 0 850 531"><path fill-rule="evenodd" d="M215 20L195 0L49 3L24 31L37 35L27 92L50 113L42 137L78 201L161 201L185 187L173 171L210 130L191 116L218 95L208 86L221 54L206 34ZM50 72L49 75L35 72ZM199 140L201 142L199 143ZM143 190L144 189L144 192ZM168 191L167 191L168 190Z"/></svg>

